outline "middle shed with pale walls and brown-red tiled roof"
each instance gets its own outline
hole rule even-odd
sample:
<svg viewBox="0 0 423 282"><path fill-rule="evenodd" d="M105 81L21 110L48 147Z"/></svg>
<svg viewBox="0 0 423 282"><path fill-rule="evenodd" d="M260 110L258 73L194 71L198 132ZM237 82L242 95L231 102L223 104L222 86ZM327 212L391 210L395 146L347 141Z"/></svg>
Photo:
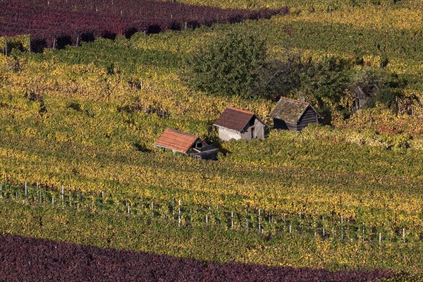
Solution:
<svg viewBox="0 0 423 282"><path fill-rule="evenodd" d="M214 122L223 141L264 139L266 124L254 112L228 106Z"/></svg>

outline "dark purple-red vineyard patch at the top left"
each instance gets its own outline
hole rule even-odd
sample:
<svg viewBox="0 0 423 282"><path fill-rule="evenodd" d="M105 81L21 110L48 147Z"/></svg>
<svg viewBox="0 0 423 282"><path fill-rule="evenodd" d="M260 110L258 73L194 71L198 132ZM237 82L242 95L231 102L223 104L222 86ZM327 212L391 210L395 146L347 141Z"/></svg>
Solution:
<svg viewBox="0 0 423 282"><path fill-rule="evenodd" d="M94 37L114 39L135 32L157 33L183 30L212 23L239 23L247 19L270 18L288 10L221 10L204 6L161 1L2 1L0 37L31 35L33 50L63 48L67 44L92 41Z"/></svg>

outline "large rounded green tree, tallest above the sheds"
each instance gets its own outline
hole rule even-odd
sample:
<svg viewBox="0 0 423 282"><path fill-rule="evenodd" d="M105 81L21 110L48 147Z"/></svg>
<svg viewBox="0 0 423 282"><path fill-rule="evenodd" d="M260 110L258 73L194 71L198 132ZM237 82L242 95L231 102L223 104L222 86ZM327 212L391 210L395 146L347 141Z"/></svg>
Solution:
<svg viewBox="0 0 423 282"><path fill-rule="evenodd" d="M266 59L266 44L254 35L229 32L185 60L183 80L220 96L257 97L253 91Z"/></svg>

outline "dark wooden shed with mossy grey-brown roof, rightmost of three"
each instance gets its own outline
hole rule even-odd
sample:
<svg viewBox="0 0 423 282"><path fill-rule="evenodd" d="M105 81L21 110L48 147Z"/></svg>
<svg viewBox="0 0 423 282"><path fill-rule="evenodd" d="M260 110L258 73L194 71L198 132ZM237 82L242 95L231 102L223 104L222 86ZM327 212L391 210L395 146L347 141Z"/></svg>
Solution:
<svg viewBox="0 0 423 282"><path fill-rule="evenodd" d="M300 131L309 123L319 123L319 114L307 102L281 97L271 112L275 129Z"/></svg>

